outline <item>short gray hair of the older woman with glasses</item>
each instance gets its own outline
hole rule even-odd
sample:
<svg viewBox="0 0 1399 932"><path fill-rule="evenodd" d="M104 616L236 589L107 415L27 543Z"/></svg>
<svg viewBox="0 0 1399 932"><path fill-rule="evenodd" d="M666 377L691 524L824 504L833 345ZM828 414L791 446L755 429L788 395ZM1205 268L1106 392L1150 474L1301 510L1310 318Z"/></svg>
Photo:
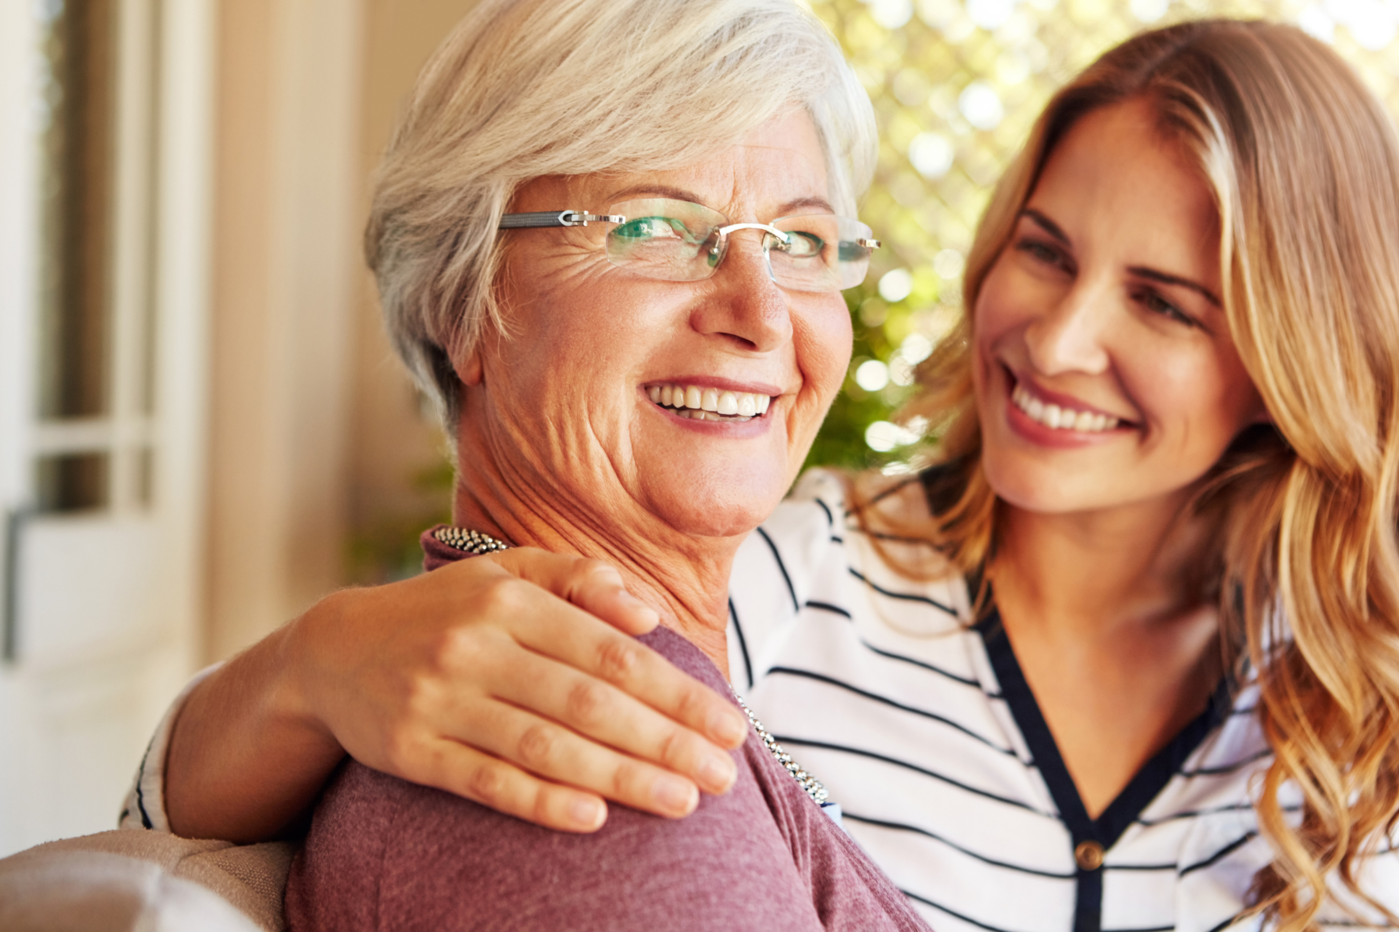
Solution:
<svg viewBox="0 0 1399 932"><path fill-rule="evenodd" d="M810 113L831 200L853 216L874 112L795 0L483 0L462 20L418 76L365 231L389 336L448 434L452 360L487 319L506 326L497 227L519 185L694 164L790 106Z"/></svg>

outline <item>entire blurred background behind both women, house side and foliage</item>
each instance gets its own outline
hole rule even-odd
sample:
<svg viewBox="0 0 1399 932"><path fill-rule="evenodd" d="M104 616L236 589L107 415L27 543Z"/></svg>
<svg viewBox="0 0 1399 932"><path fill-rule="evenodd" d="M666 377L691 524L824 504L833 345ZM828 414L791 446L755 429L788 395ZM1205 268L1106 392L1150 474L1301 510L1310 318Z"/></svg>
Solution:
<svg viewBox="0 0 1399 932"><path fill-rule="evenodd" d="M115 824L162 709L417 570L443 441L360 259L368 178L473 0L0 0L0 855ZM909 469L989 185L1144 27L1266 15L1399 105L1399 0L811 0L883 134L855 360L810 462Z"/></svg>

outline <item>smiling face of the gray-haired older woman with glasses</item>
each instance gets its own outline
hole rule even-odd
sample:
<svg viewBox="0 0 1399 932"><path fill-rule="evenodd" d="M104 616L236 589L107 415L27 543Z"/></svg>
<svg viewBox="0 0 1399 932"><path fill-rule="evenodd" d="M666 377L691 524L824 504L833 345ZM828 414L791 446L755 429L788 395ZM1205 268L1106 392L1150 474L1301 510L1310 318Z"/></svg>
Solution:
<svg viewBox="0 0 1399 932"><path fill-rule="evenodd" d="M523 185L511 213L665 203L733 228L722 253L701 250L695 270L672 273L705 277L681 281L638 273L634 253L618 259L638 228L648 232L638 224L670 234L665 218L504 234L509 332L488 332L459 365L463 467L499 470L492 486L529 490L534 514L592 502L589 530L609 540L684 553L693 535L746 533L790 486L849 362L839 291L799 290L790 271L790 249L811 238L792 234L783 249L771 232L779 218L830 217L830 200L804 111L687 168ZM540 490L550 501L537 501Z"/></svg>

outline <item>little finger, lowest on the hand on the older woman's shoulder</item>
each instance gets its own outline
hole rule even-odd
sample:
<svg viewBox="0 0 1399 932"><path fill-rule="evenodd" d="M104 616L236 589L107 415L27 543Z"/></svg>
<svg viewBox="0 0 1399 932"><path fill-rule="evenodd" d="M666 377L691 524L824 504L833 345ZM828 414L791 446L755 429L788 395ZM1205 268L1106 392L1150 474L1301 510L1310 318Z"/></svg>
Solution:
<svg viewBox="0 0 1399 932"><path fill-rule="evenodd" d="M434 742L397 775L555 831L596 831L607 820L607 803L596 793L540 779L449 739Z"/></svg>

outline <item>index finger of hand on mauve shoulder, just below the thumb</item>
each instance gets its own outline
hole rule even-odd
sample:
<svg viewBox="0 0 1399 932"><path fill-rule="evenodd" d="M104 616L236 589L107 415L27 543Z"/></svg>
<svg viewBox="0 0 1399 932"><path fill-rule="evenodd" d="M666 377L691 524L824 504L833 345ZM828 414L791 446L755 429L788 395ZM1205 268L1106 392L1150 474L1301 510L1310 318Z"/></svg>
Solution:
<svg viewBox="0 0 1399 932"><path fill-rule="evenodd" d="M748 722L733 702L609 626L560 612L532 617L516 637L529 649L616 686L720 747L737 747L748 735Z"/></svg>

